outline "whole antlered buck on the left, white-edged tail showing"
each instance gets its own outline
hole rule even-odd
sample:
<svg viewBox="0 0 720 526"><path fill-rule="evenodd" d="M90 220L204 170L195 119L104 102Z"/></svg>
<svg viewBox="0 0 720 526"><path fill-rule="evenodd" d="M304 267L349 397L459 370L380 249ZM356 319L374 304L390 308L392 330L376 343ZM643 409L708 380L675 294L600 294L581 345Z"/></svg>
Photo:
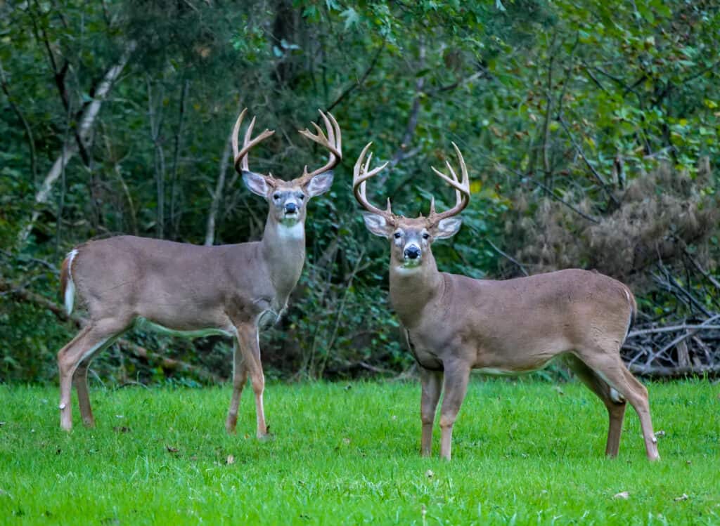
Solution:
<svg viewBox="0 0 720 526"><path fill-rule="evenodd" d="M127 329L145 325L173 333L233 337L233 399L225 427L235 431L240 394L248 374L255 393L257 435L267 434L263 410L265 379L258 331L274 323L287 306L305 263L307 201L333 183L342 157L341 134L331 114L320 114L327 135L300 133L330 151L328 163L299 178L282 181L270 173L251 172L248 152L274 132L251 139L253 118L238 148L246 109L233 131L235 169L248 189L269 204L261 241L213 247L144 237L120 236L79 245L63 261L61 294L71 312L76 295L84 301L89 322L58 353L60 426L72 427L71 387L75 385L83 421L94 425L87 371L96 353ZM239 349L239 352L238 352Z"/></svg>

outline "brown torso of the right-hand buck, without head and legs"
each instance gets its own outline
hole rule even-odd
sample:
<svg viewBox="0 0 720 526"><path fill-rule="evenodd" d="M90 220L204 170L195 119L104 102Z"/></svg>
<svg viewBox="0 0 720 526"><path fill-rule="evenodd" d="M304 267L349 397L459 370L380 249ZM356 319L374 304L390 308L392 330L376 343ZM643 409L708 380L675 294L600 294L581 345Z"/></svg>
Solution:
<svg viewBox="0 0 720 526"><path fill-rule="evenodd" d="M403 297L408 290L417 294L426 281L390 271L392 306L415 358L428 369L454 358L496 373L536 371L559 353L619 348L631 320L625 286L598 273L573 269L508 281L438 276L418 311ZM595 319L586 324L591 313ZM500 322L508 319L513 323ZM444 350L440 357L433 353L437 349Z"/></svg>

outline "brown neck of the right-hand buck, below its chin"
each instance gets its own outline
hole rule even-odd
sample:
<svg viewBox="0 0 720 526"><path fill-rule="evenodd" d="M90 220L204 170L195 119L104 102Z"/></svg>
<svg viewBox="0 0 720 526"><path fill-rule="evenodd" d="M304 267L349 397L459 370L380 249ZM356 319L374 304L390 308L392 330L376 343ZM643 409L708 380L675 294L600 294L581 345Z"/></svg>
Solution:
<svg viewBox="0 0 720 526"><path fill-rule="evenodd" d="M390 259L390 302L402 325L414 327L420 322L423 309L442 294L444 280L432 253L418 268L408 271L402 262Z"/></svg>

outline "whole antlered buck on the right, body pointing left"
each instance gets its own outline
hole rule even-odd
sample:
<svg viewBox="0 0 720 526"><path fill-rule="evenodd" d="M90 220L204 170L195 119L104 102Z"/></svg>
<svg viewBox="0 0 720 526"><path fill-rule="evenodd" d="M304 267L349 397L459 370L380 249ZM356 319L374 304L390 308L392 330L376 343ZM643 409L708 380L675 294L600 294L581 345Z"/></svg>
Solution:
<svg viewBox="0 0 720 526"><path fill-rule="evenodd" d="M454 144L453 144L454 145ZM370 170L368 144L354 168L353 191L365 225L390 240L390 301L402 322L408 347L420 366L423 422L421 451L431 454L433 421L440 398L440 455L450 459L452 427L467 391L471 369L517 374L542 368L564 355L580 379L608 409L606 455L618 454L629 401L640 417L647 457L660 458L652 432L647 389L620 358L636 304L619 281L578 269L506 281L472 279L438 271L431 243L451 237L462 219L455 217L470 199L469 176L460 150L462 181L450 163L450 176L433 171L456 192L445 212L409 219L369 203L366 181L387 163Z"/></svg>

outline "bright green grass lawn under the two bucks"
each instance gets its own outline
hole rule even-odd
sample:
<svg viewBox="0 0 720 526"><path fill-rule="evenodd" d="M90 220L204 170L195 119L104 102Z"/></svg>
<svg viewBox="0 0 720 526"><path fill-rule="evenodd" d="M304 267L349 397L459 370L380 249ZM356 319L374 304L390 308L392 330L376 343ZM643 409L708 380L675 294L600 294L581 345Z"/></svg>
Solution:
<svg viewBox="0 0 720 526"><path fill-rule="evenodd" d="M719 387L649 391L659 463L632 409L608 461L593 394L532 381L472 382L446 463L418 455L418 384L271 384L268 442L249 387L228 436L228 386L93 389L97 427L75 404L69 435L57 389L0 386L0 522L720 524Z"/></svg>

